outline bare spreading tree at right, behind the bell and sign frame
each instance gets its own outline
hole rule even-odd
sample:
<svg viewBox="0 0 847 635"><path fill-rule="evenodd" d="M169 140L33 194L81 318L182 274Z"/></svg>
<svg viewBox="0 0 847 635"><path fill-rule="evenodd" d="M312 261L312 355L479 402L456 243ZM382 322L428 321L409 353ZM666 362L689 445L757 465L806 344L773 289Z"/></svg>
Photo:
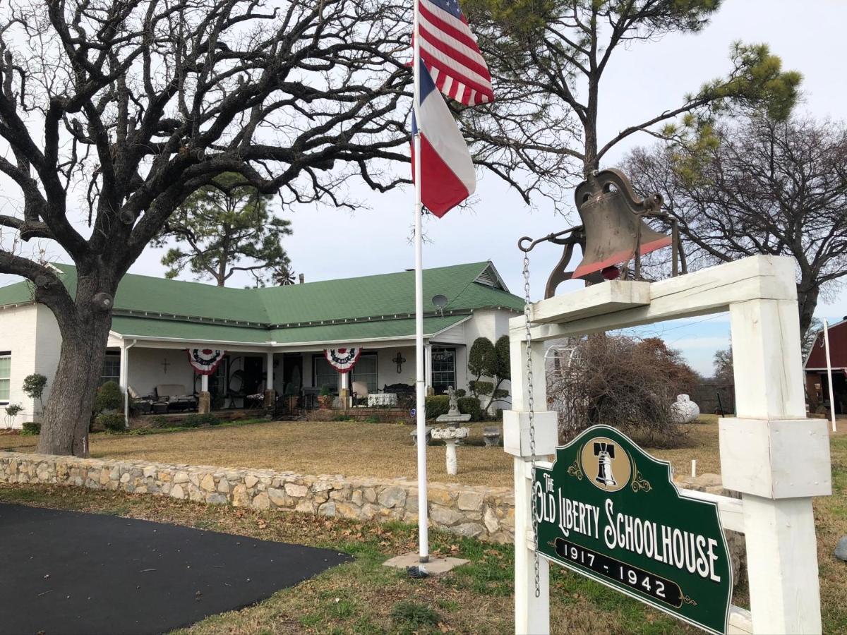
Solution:
<svg viewBox="0 0 847 635"><path fill-rule="evenodd" d="M690 143L635 151L641 191L660 191L694 267L755 254L797 262L800 329L847 276L847 128L812 119L733 119Z"/></svg>

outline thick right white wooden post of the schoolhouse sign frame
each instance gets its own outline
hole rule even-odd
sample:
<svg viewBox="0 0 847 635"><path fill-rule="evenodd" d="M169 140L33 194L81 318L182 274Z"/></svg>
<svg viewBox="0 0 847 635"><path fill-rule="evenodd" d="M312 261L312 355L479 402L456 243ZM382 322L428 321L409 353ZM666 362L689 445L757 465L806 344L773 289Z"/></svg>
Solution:
<svg viewBox="0 0 847 635"><path fill-rule="evenodd" d="M821 632L811 497L830 494L829 439L805 418L797 302L729 312L738 415L721 420L721 472L744 500L753 632Z"/></svg>

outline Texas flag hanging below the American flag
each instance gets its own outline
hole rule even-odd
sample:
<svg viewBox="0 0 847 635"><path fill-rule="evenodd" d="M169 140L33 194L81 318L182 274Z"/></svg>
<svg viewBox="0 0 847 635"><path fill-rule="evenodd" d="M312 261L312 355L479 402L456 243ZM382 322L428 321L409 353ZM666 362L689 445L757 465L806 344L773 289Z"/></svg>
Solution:
<svg viewBox="0 0 847 635"><path fill-rule="evenodd" d="M450 108L435 88L424 62L418 67L420 82L421 200L430 212L441 218L476 190L476 173L462 132ZM418 134L418 121L412 114L412 138ZM412 179L415 174L415 146L412 142Z"/></svg>

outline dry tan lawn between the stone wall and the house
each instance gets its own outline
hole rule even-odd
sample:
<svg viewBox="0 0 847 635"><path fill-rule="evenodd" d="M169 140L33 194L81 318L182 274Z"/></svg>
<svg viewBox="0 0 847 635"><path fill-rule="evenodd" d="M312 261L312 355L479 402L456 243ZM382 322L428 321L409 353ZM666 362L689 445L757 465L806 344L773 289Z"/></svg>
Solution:
<svg viewBox="0 0 847 635"><path fill-rule="evenodd" d="M677 473L719 472L717 417L690 426L683 447L650 450L671 461ZM446 472L445 450L433 446L427 456L429 480L443 483L512 487L512 459L501 448L482 445L485 423L470 425L469 444L457 448L459 473ZM221 467L258 467L305 474L344 473L348 477L416 477L412 426L370 422L243 422L213 428L169 430L143 435L92 434L93 458L144 459ZM0 435L0 450L34 451L37 437Z"/></svg>

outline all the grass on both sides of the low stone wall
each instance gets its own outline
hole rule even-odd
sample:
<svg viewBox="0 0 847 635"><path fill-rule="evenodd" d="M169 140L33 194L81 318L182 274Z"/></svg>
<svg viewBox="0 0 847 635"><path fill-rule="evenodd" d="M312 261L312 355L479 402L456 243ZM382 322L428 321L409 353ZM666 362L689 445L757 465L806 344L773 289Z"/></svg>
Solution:
<svg viewBox="0 0 847 635"><path fill-rule="evenodd" d="M480 435L482 424L472 426ZM413 476L411 428L348 422L258 423L143 437L94 435L92 456L152 461L276 467L348 476ZM34 449L36 438L0 434L0 448ZM21 447L23 445L23 447ZM847 563L833 556L847 534L847 433L831 437L833 495L814 501L824 632L847 632ZM684 447L650 450L678 473L718 472L717 419L691 427ZM511 485L511 462L501 449L462 446L464 483ZM429 452L429 477L446 481L443 449ZM434 552L471 560L440 580L412 581L381 562L416 548L414 527L374 526L300 514L180 503L152 496L30 486L0 486L0 501L54 506L174 522L257 538L347 551L356 559L254 607L213 616L191 633L255 632L509 632L512 628L510 546L434 532ZM558 632L688 632L672 618L590 580L551 569L552 625ZM407 603L400 605L399 603ZM411 604L409 604L411 603ZM744 604L743 594L736 603ZM419 605L433 611L419 611ZM418 608L415 608L418 607ZM433 615L439 621L433 626ZM430 619L432 618L432 619ZM421 623L421 622L425 623ZM622 625L626 625L622 627ZM623 630L622 630L623 628Z"/></svg>

